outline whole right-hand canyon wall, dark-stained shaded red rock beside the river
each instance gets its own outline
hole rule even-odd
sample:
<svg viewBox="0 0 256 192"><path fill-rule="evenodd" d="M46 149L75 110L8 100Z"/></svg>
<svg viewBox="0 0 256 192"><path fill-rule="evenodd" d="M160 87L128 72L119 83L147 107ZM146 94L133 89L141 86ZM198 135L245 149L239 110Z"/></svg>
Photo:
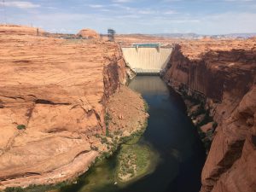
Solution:
<svg viewBox="0 0 256 192"><path fill-rule="evenodd" d="M218 123L201 176L201 192L256 189L255 75L253 39L191 41L173 50L164 79L205 102Z"/></svg>

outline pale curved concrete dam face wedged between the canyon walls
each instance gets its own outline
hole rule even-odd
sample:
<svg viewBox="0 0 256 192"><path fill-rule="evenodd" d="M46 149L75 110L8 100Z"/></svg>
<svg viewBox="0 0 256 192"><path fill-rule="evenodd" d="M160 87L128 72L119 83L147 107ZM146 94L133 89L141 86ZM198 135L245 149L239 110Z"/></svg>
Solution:
<svg viewBox="0 0 256 192"><path fill-rule="evenodd" d="M124 47L125 61L135 73L160 73L170 61L172 48Z"/></svg>

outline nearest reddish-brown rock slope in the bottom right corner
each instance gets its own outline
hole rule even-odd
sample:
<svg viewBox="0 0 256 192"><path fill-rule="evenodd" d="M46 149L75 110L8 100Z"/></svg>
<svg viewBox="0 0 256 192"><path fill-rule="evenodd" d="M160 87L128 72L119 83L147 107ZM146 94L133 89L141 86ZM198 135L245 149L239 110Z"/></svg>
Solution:
<svg viewBox="0 0 256 192"><path fill-rule="evenodd" d="M223 129L217 132L202 173L202 191L208 191L212 175L222 173L214 192L253 192L256 189L256 86L244 96ZM221 150L220 150L221 148ZM212 165L218 165L213 167ZM210 182L207 178L211 178ZM214 179L213 179L214 181Z"/></svg>

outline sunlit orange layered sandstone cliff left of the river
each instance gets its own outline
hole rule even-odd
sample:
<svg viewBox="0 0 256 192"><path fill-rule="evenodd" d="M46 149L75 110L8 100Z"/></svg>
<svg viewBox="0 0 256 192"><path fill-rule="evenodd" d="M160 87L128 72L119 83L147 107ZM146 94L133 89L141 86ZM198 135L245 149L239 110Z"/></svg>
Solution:
<svg viewBox="0 0 256 192"><path fill-rule="evenodd" d="M85 172L108 150L96 134L105 132L108 97L126 79L117 44L15 30L0 35L0 189Z"/></svg>

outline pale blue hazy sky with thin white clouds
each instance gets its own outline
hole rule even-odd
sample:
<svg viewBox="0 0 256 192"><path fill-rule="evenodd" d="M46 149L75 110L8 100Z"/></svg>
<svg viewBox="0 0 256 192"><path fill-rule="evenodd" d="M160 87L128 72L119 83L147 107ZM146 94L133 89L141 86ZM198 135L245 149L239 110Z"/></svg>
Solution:
<svg viewBox="0 0 256 192"><path fill-rule="evenodd" d="M49 32L256 32L256 0L5 0L5 11L0 2L1 23Z"/></svg>

